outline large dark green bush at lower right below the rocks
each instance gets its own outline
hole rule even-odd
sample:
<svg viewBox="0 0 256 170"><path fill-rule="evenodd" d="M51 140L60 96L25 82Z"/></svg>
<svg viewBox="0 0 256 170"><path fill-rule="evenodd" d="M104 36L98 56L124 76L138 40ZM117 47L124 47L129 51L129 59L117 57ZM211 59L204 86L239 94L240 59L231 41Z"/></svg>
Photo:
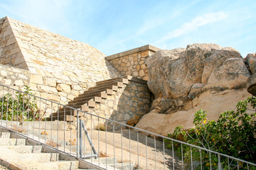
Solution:
<svg viewBox="0 0 256 170"><path fill-rule="evenodd" d="M250 105L249 105L250 104ZM249 106L248 106L249 105ZM193 124L195 128L183 130L178 126L169 137L181 140L198 147L210 149L222 154L228 154L231 157L243 159L247 162L256 163L256 119L255 119L256 98L250 97L245 101L240 101L237 105L237 111L225 111L220 114L217 121L208 121L206 111L199 110L195 113ZM252 109L250 109L252 108ZM247 113L247 110L253 113ZM203 149L197 149L188 145L182 145L178 142L172 143L166 140L167 147L176 149L179 156L183 155L184 162L191 165L191 155L193 158L192 166L196 169L218 169L218 154L210 154ZM223 169L247 169L247 164L237 162L234 159L220 157ZM197 163L197 164L196 164ZM250 167L250 169L256 169Z"/></svg>

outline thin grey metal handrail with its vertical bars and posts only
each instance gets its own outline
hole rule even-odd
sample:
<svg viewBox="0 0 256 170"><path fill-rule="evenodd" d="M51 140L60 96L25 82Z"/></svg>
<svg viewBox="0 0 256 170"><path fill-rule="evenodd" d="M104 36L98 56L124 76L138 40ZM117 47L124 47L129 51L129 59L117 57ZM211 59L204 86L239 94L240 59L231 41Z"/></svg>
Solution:
<svg viewBox="0 0 256 170"><path fill-rule="evenodd" d="M91 154L90 154L90 158L91 158L91 163L92 163L92 157L95 157L95 159L98 159L98 165L100 166L100 157L97 157L97 156L100 156L100 132L99 132L99 129L100 129L100 120L104 120L105 121L105 154L106 154L106 163L107 163L107 123L110 123L110 124L112 124L111 126L112 126L112 132L113 132L113 145L115 145L115 142L114 142L114 134L115 134L115 128L116 128L116 126L115 125L119 125L119 127L121 127L120 129L121 129L121 142L122 142L122 135L123 135L123 128L127 128L128 130L129 130L129 163L131 164L132 163L132 159L131 159L131 154L132 154L132 152L131 152L131 130L134 130L134 131L137 131L137 166L138 166L138 168L139 168L139 166L141 166L139 163L140 163L140 161L139 161L139 132L143 132L144 134L146 134L146 138L145 138L145 140L146 140L146 168L148 168L148 161L149 161L149 158L148 158L148 154L147 154L147 147L148 147L148 145L147 145L147 135L151 135L151 136L154 136L154 150L155 150L155 160L154 160L154 162L155 162L155 169L157 169L157 167L156 167L156 137L158 137L158 138L161 138L162 139L162 141L163 141L163 152L164 152L164 169L166 169L166 152L165 152L165 143L164 143L164 140L170 140L171 142L172 142L172 162L173 162L173 166L172 166L172 168L173 169L175 169L175 158L174 158L174 142L177 142L177 143L179 143L180 145L181 145L181 153L183 153L183 151L182 151L182 149L183 149L183 145L186 145L186 146L188 146L188 147L191 147L191 169L193 169L193 157L192 157L192 155L193 155L193 153L192 153L192 148L196 148L196 149L198 149L199 151L200 151L200 155L201 155L201 151L205 151L205 152L208 152L209 153L209 156L211 155L211 154L216 154L216 155L218 155L218 169L222 169L221 168L221 157L225 157L225 159L228 159L228 167L230 168L230 159L231 160L235 160L238 164L237 164L237 167L239 168L240 167L240 164L239 164L239 162L242 162L242 163L244 163L244 164L247 164L247 169L249 169L249 165L251 165L251 166L255 166L256 167L256 164L254 164L254 163L252 163L252 162L247 162L247 161L245 161L245 160L242 160L242 159L238 159L238 158L235 158L235 157L231 157L231 156L229 156L229 155L226 155L226 154L221 154L221 153L219 153L219 152L215 152L215 151L212 151L212 150L210 150L210 149L206 149L206 148L203 148L203 147L198 147L198 146L196 146L196 145L191 145L191 144L188 144L188 143L186 143L186 142L182 142L182 141L179 141L179 140L174 140L174 139L172 139L172 138L170 138L170 137L165 137L165 136L163 136L163 135L158 135L158 134L156 134L156 133L154 133L154 132L149 132L149 131L147 131L147 130L142 130L142 129L139 129L139 128L135 128L135 127L132 127L132 126L130 126L130 125L126 125L126 124L124 124L124 123L119 123L119 122L117 122L117 121L115 121L115 120L110 120L110 119L108 119L108 118L102 118L101 116L99 116L99 115L93 115L92 113L88 113L88 112L85 112L85 111L80 111L79 109L77 109L77 108L73 108L73 107L70 107L70 106L65 106L65 105L63 105L63 104L60 104L60 103L58 103L58 102L55 102L55 101L50 101L50 100L48 100L48 99L46 99L46 98L41 98L41 97L38 97L38 96L35 96L35 95L32 95L32 94L28 94L28 93L25 93L25 92L23 92L23 91L18 91L18 90L16 90L16 89L12 89L12 88L10 88L10 87L8 87L8 86L4 86L4 85L1 85L0 84L0 86L2 86L3 87L3 95L4 95L4 89L6 88L6 89L8 89L8 91L11 89L11 91L13 91L13 97L14 97L14 91L16 91L16 92L19 92L19 93L23 93L23 94L26 94L26 95L28 95L28 96L32 96L33 98L37 98L37 100L39 100L40 101L40 107L41 107L41 101L45 101L46 103L48 102L48 103L50 103L50 106L51 106L51 108L50 108L50 110L51 110L51 113L53 113L53 104L56 104L57 106L58 106L58 108L60 108L60 106L62 106L63 108L70 108L70 115L72 114L72 111L76 111L77 113L83 113L83 117L85 118L85 115L86 115L86 117L87 118L91 118L91 120L92 120L92 117L93 118L95 118L95 120L97 120L97 125L98 125L98 138L97 138L97 142L98 142L98 148L97 148L97 151L96 151L96 149L95 149L95 147L92 145L92 140L90 139L90 135L89 135L89 132L87 132L87 129L86 129L86 127L85 127L85 124L82 122L82 120L78 120L77 119L77 138L76 138L76 143L77 143L77 152L75 153L76 155L77 155L77 157L78 158L82 158L82 159L86 159L87 157L89 157L88 155L86 156L86 155L84 155L84 154L82 154L82 149L84 149L85 150L85 146L84 145L82 145L82 129L83 130L85 130L85 135L87 136L87 140L89 141L89 144L90 144L90 147L91 147ZM4 98L2 99L3 101L4 101ZM46 104L45 103L45 104ZM4 105L4 104L3 104ZM0 106L0 107L3 107L3 106ZM8 106L7 106L8 107ZM29 106L28 106L29 107ZM8 111L7 111L8 112ZM59 112L58 112L59 113ZM3 108L1 109L1 122L3 122L3 119L2 119L2 115L3 115ZM68 114L67 114L68 115ZM79 115L79 114L77 114L77 115ZM13 116L13 114L12 114L12 116ZM65 112L64 112L64 120L65 120ZM50 140L52 140L52 130L53 130L53 114L51 114L51 121L50 121L50 123L51 123L51 125L50 125L50 135L51 135L51 137L50 137ZM59 119L60 118L60 115L58 114L58 116L57 116L57 118ZM78 118L79 118L79 116L78 116ZM12 121L13 121L13 119L11 120L11 125L12 125ZM33 123L34 123L35 121L33 121ZM6 121L6 123L8 123L8 121ZM39 123L40 123L40 121L39 121ZM45 125L46 125L46 123L45 123ZM7 125L6 125L7 126ZM81 126L82 126L82 128L81 128ZM80 127L80 128L79 128ZM22 128L23 128L23 122L22 122ZM64 139L65 139L65 123L64 123ZM91 121L91 125L90 125L90 132L91 132L91 136L92 136L92 121ZM27 127L27 130L28 130L28 127ZM34 128L33 128L33 130L34 130ZM45 128L45 130L46 130L46 128ZM39 124L39 131L40 131L40 124ZM58 131L59 131L59 129L58 129ZM70 152L70 154L73 154L73 152L72 152L72 147L71 147L71 145L72 145L72 137L71 137L71 135L72 135L72 133L71 133L71 131L72 131L72 128L71 128L71 130L70 130L70 151L68 151L68 152ZM78 133L78 131L80 131L80 134ZM58 132L57 132L58 133ZM36 135L34 132L33 132L33 138L34 138L34 135ZM40 135L39 135L40 136ZM41 138L40 137L38 137L38 140L39 140L39 142L40 142L40 140L41 140ZM79 141L78 141L79 140ZM45 135L45 140L44 140L44 142L45 142L45 144L46 144L46 135ZM50 141L50 142L52 142L52 141ZM50 145L51 145L51 143L50 143ZM122 146L122 160L123 160L123 152L124 152L124 149L123 149L123 143L121 144L121 146ZM57 149L58 149L58 134L57 134ZM79 147L79 148L78 148ZM64 145L64 151L63 152L65 152L65 145ZM92 154L92 152L93 152L93 154ZM115 155L115 147L114 147L114 155ZM221 156L221 157L220 157ZM200 156L201 157L201 156ZM210 158L210 161L211 161L211 158ZM182 162L182 169L184 168L184 160L183 160L183 154L181 154L181 162ZM114 163L115 164L115 163ZM200 162L200 164L201 164L201 169L202 169L202 161ZM122 167L123 167L123 163L122 163ZM107 166L107 164L106 164L106 166L105 166L105 168L106 169L108 169L108 166ZM130 165L130 168L131 168L131 165ZM212 169L212 165L210 164L210 169Z"/></svg>

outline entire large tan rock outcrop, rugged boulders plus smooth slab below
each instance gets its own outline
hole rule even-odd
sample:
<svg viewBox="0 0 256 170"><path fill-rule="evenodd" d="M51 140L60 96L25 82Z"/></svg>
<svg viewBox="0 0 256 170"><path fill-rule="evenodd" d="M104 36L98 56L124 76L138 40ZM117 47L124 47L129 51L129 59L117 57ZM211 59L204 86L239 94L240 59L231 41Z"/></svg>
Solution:
<svg viewBox="0 0 256 170"><path fill-rule="evenodd" d="M178 125L193 127L193 114L200 108L208 111L208 120L235 110L238 101L251 96L247 79L254 72L250 69L255 70L256 59L247 60L251 64L238 50L215 44L154 53L146 66L155 98L151 113L144 115L137 127L167 135Z"/></svg>

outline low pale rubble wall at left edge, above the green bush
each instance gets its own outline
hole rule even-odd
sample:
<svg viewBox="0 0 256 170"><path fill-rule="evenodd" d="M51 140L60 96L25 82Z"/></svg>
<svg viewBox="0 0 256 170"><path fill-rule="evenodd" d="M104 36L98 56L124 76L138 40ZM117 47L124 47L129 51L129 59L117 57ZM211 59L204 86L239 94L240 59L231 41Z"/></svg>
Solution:
<svg viewBox="0 0 256 170"><path fill-rule="evenodd" d="M28 70L17 69L15 67L0 64L0 82L4 86L23 91L24 85L29 86L30 75L31 73ZM2 90L3 87L1 86L0 89ZM4 93L6 93L6 91L7 89ZM2 96L2 94L0 94L0 96Z"/></svg>

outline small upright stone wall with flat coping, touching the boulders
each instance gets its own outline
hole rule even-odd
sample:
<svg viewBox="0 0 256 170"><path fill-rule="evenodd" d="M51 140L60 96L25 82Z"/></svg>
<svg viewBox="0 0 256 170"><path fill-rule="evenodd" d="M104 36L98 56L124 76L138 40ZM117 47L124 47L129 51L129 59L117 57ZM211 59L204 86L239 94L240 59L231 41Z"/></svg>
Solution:
<svg viewBox="0 0 256 170"><path fill-rule="evenodd" d="M154 52L160 50L152 45L145 45L115 55L105 57L114 67L122 74L122 76L134 76L140 79L148 80L148 72L146 70L145 60Z"/></svg>

